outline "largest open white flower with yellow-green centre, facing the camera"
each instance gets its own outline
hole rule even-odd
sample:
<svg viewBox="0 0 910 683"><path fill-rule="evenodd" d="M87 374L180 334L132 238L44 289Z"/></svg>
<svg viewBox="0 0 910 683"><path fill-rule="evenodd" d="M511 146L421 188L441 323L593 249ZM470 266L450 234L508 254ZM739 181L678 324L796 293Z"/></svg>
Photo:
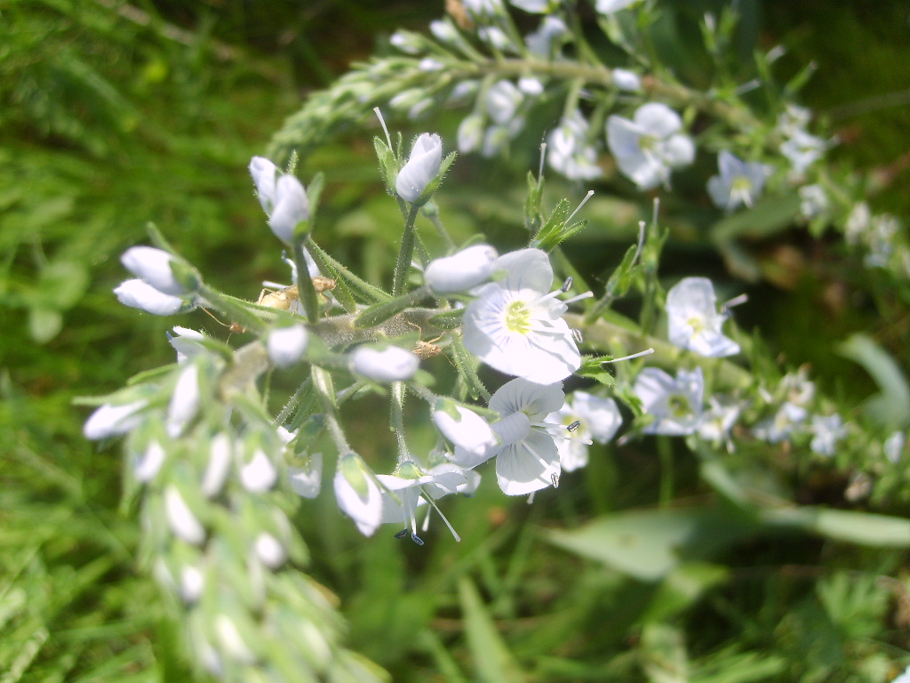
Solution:
<svg viewBox="0 0 910 683"><path fill-rule="evenodd" d="M581 353L566 305L550 292L553 270L546 253L524 249L496 260L506 277L482 285L464 313L464 344L490 367L531 382L550 384L581 367Z"/></svg>

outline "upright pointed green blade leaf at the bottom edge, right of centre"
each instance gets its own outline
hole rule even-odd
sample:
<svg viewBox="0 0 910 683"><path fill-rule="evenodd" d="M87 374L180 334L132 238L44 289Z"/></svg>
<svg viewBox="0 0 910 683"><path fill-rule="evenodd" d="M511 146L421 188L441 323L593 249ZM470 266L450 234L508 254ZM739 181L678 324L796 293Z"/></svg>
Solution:
<svg viewBox="0 0 910 683"><path fill-rule="evenodd" d="M470 578L459 579L465 636L477 676L483 683L523 683L526 678L506 647Z"/></svg>

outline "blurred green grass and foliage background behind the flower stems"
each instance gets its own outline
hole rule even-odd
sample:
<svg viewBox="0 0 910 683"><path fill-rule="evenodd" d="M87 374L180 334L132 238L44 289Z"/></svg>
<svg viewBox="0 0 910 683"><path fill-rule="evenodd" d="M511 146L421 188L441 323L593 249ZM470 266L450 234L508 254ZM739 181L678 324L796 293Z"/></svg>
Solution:
<svg viewBox="0 0 910 683"><path fill-rule="evenodd" d="M171 358L172 321L116 305L116 256L154 221L231 293L253 298L259 280L288 280L252 197L249 157L308 90L441 5L0 0L2 683L189 677L165 605L136 574L135 516L118 507L120 459L82 439L84 413L70 405ZM676 5L665 29L686 36L721 3ZM780 42L794 71L815 60L806 104L839 127L838 157L878 168L876 201L910 214L905 2L741 7L741 51ZM304 165L329 181L320 242L380 281L399 223L368 138L331 141ZM518 243L523 189L506 179L529 165L521 154L508 166L459 160L440 198L457 240L480 230L502 247ZM554 197L575 190L553 187ZM591 201L591 228L566 249L586 277L599 280L622 259L639 211L623 199ZM722 261L686 229L674 230L664 274L723 278ZM759 325L775 351L812 362L823 385L854 403L877 391L875 378L834 342L864 331L910 365L905 305L875 283L857 287L858 269L835 245L784 233L765 256L774 277L749 288L740 322ZM224 336L193 316L181 324ZM369 400L357 410L361 453L389 460L391 435L377 436L385 416L370 413ZM877 683L910 661L905 549L798 529L755 534L744 523L743 535L718 538L693 520L740 513L709 503L699 464L682 449L671 453L681 509L617 512L654 505L654 450L652 440L599 447L584 472L533 506L505 501L487 481L471 505L451 508L461 544L433 532L422 548L385 534L364 540L323 495L297 520L311 572L339 594L350 644L402 682ZM798 498L835 506L848 505L847 484L834 473L793 482ZM595 515L600 530L582 525ZM712 552L677 556L698 534Z"/></svg>

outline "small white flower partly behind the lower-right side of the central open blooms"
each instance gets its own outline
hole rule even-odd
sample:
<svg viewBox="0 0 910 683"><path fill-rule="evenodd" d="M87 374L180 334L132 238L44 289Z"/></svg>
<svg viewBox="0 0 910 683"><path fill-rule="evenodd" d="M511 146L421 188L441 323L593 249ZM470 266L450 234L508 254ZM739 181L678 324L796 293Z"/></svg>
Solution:
<svg viewBox="0 0 910 683"><path fill-rule="evenodd" d="M572 392L571 397L556 413L547 417L548 423L562 427L575 425L570 433L557 436L560 466L566 472L588 464L588 443L594 439L607 443L622 426L622 415L616 402L588 392ZM577 424L576 424L577 423Z"/></svg>

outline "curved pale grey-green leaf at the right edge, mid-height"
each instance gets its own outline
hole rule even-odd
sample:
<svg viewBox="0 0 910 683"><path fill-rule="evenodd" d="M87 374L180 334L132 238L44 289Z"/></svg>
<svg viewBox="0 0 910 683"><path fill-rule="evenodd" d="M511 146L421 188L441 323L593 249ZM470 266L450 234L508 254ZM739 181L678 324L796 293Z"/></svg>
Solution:
<svg viewBox="0 0 910 683"><path fill-rule="evenodd" d="M869 418L892 429L910 424L910 386L895 359L864 334L854 334L837 351L862 365L882 390L864 404Z"/></svg>

